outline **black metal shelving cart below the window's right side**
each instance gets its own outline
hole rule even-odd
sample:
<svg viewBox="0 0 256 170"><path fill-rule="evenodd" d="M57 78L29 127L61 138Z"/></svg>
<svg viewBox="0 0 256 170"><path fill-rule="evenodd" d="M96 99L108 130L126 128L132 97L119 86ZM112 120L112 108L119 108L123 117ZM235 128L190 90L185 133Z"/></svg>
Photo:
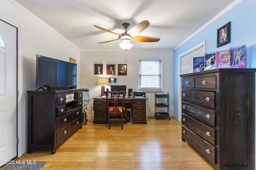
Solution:
<svg viewBox="0 0 256 170"><path fill-rule="evenodd" d="M169 119L169 93L156 94L155 93L155 117L158 119Z"/></svg>

